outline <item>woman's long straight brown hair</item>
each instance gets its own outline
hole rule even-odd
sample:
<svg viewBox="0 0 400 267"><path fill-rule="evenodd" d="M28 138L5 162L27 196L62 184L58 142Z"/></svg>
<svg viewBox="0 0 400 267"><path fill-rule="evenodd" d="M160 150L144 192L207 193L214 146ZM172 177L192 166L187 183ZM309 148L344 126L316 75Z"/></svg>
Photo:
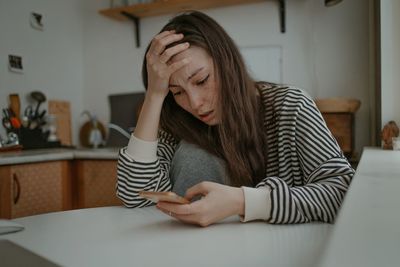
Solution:
<svg viewBox="0 0 400 267"><path fill-rule="evenodd" d="M254 186L265 175L264 112L239 49L215 20L198 11L174 17L160 32L167 30L183 33L179 43L189 42L203 48L213 59L220 89L221 122L216 126L204 124L176 104L169 92L162 107L161 128L178 140L194 143L222 158L231 185ZM145 88L146 66L145 57L142 67Z"/></svg>

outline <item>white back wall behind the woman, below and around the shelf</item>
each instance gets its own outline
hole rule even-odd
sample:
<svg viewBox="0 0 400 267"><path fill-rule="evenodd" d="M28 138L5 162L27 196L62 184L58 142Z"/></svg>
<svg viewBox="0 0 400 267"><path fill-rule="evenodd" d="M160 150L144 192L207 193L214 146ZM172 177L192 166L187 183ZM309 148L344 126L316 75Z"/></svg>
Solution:
<svg viewBox="0 0 400 267"><path fill-rule="evenodd" d="M140 69L144 49L172 16L141 20L142 46L135 47L130 22L93 12L107 0L86 1L85 105L108 121L107 95L143 90ZM369 10L365 0L343 1L326 8L320 0L287 1L286 33L280 33L275 1L205 10L239 47L282 47L282 80L313 97L354 97L356 150L370 141Z"/></svg>

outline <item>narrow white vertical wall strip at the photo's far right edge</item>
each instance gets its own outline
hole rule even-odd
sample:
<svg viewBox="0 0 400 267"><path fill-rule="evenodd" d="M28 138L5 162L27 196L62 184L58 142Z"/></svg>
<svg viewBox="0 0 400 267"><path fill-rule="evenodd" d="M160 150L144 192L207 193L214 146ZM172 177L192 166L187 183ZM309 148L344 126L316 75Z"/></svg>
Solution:
<svg viewBox="0 0 400 267"><path fill-rule="evenodd" d="M382 126L400 126L400 1L381 1Z"/></svg>

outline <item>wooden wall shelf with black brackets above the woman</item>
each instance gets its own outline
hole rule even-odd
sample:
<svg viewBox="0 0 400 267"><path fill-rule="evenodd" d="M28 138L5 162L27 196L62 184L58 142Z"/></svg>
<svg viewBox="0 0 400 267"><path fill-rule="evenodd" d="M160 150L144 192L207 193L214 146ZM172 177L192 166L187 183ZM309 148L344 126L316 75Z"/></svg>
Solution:
<svg viewBox="0 0 400 267"><path fill-rule="evenodd" d="M151 3L135 4L118 8L100 10L99 13L114 20L131 20L136 29L136 46L140 46L140 18L179 13L185 10L201 10L215 7L243 5L268 0L158 0ZM271 1L271 0L269 0ZM281 32L285 29L285 0L274 0L279 3Z"/></svg>

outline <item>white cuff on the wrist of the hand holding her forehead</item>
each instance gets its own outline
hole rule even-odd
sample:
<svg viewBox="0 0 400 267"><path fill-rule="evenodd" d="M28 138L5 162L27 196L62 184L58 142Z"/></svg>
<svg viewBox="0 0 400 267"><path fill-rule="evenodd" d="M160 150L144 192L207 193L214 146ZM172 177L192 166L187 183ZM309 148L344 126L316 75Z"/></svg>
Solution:
<svg viewBox="0 0 400 267"><path fill-rule="evenodd" d="M132 134L126 153L135 161L154 162L157 160L157 145L158 141L144 141Z"/></svg>

